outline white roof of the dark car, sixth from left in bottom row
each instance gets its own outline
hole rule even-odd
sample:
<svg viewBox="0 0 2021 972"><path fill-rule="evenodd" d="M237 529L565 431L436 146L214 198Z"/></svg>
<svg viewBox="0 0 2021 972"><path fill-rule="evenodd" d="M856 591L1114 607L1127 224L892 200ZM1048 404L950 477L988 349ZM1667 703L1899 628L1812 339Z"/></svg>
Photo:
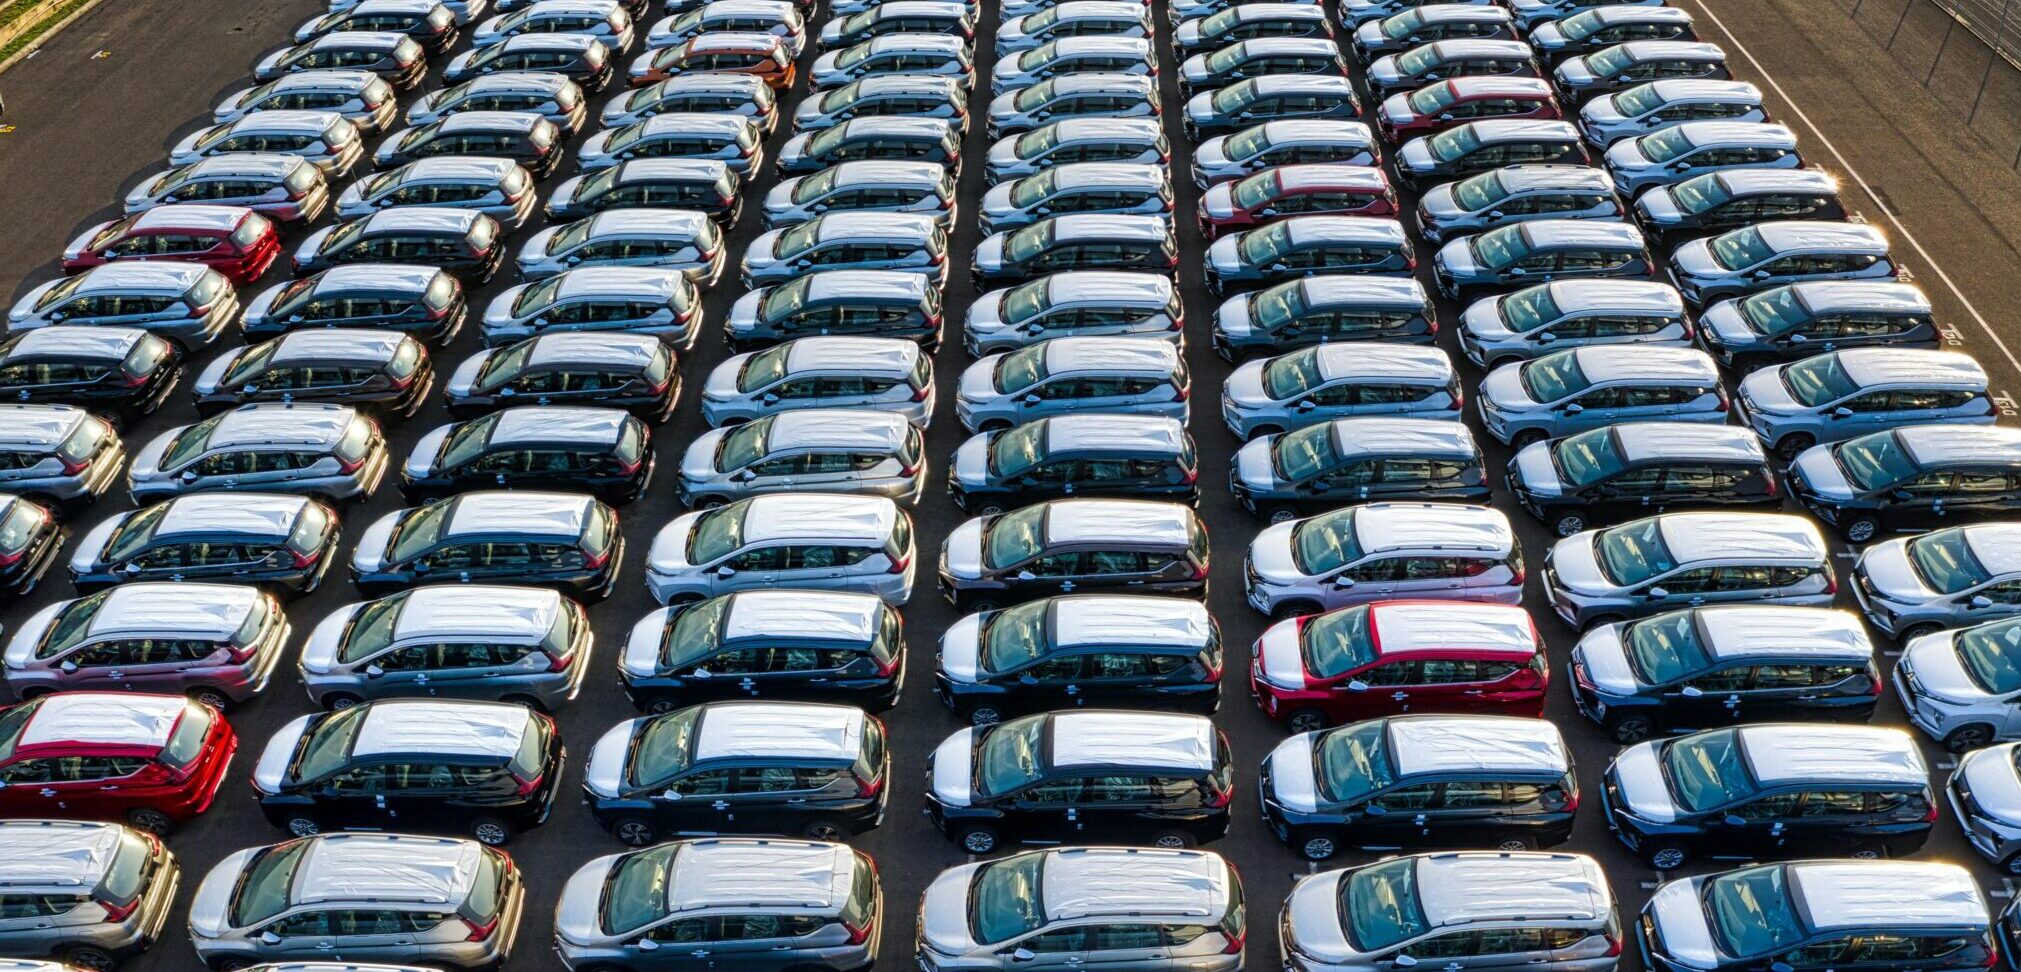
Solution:
<svg viewBox="0 0 2021 972"><path fill-rule="evenodd" d="M1979 881L1938 861L1795 861L1785 865L1791 897L1813 932L1904 926L1983 928Z"/></svg>

